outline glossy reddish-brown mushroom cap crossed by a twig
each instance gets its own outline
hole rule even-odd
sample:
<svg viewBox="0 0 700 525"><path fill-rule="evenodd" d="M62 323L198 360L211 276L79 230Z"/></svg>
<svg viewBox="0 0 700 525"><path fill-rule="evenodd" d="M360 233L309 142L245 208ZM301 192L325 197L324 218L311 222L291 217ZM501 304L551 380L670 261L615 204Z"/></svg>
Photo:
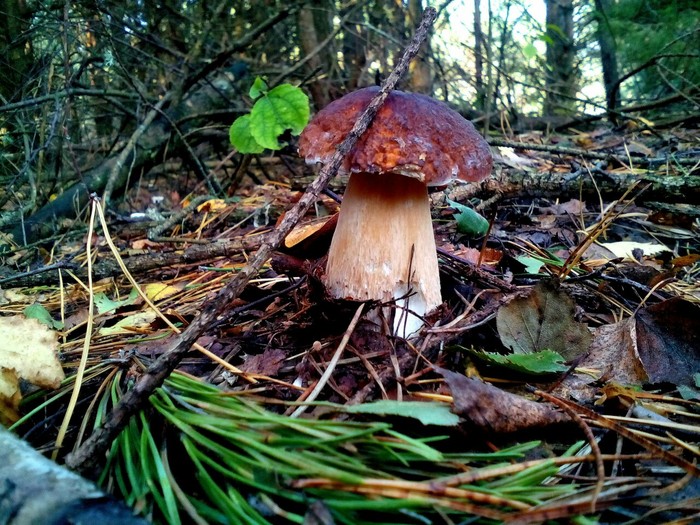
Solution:
<svg viewBox="0 0 700 525"><path fill-rule="evenodd" d="M330 161L378 90L359 89L316 114L299 140L299 153L308 163ZM425 95L392 91L341 170L400 173L444 186L454 179L485 179L492 164L488 144L459 113Z"/></svg>

